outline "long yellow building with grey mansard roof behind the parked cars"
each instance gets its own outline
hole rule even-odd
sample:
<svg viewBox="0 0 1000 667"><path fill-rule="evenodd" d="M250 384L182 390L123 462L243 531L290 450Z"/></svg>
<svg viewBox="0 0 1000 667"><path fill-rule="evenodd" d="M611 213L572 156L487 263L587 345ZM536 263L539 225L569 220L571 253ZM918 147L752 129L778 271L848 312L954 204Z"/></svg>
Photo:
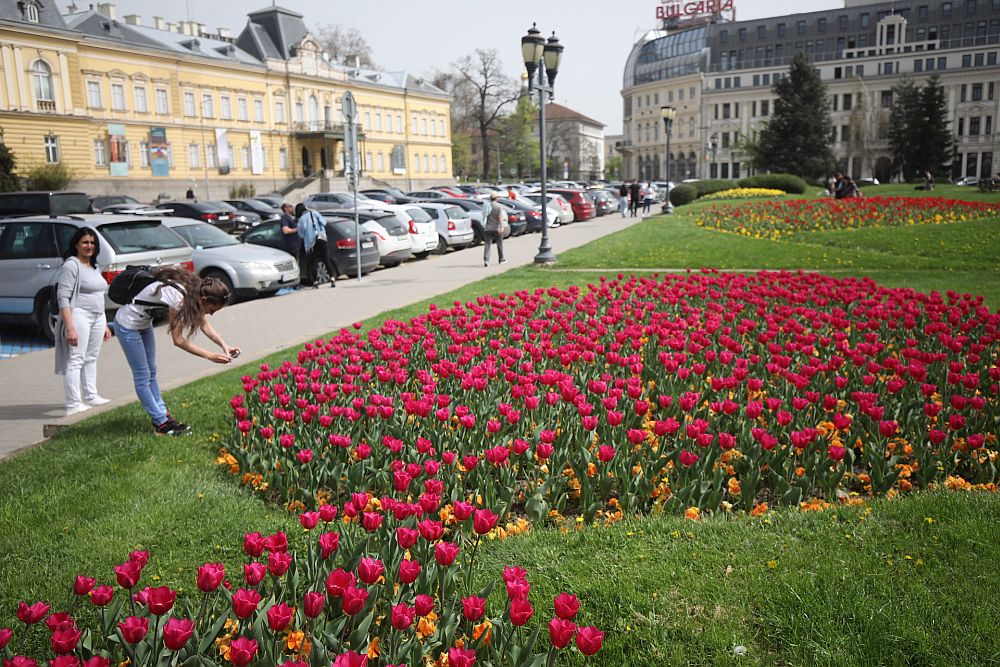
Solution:
<svg viewBox="0 0 1000 667"><path fill-rule="evenodd" d="M0 129L20 172L62 161L90 194L222 199L231 187L346 189L341 101L359 125L359 186L453 180L450 97L406 72L330 61L301 14L267 7L242 32L193 21L61 16L0 0Z"/></svg>

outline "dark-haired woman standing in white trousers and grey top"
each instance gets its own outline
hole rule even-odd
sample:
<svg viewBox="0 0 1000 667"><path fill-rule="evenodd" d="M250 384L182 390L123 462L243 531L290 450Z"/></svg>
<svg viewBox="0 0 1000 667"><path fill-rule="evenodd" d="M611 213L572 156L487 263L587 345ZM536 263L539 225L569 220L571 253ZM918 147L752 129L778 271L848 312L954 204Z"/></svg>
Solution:
<svg viewBox="0 0 1000 667"><path fill-rule="evenodd" d="M63 376L67 417L108 402L97 393L97 358L111 337L104 315L108 283L97 266L100 250L97 232L80 227L56 275L56 373Z"/></svg>

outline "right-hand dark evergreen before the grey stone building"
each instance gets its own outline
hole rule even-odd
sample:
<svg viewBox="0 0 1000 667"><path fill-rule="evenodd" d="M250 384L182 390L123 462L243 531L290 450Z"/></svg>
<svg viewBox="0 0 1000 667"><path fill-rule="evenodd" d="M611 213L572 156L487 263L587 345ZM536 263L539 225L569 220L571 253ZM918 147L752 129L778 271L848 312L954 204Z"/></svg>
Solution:
<svg viewBox="0 0 1000 667"><path fill-rule="evenodd" d="M905 80L893 88L889 113L889 148L893 166L907 180L924 171L946 176L956 143L948 127L947 98L935 74L925 86Z"/></svg>

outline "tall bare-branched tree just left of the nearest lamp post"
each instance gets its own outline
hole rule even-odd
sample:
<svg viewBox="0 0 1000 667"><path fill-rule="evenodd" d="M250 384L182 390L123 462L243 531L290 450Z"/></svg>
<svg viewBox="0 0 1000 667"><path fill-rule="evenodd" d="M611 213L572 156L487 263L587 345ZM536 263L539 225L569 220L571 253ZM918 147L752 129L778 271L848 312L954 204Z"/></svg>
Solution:
<svg viewBox="0 0 1000 667"><path fill-rule="evenodd" d="M476 49L452 68L455 75L451 93L456 107L453 113L464 115L469 126L479 131L483 146L482 177L486 180L490 164L489 134L495 130L503 109L519 97L518 84L503 73L496 49Z"/></svg>

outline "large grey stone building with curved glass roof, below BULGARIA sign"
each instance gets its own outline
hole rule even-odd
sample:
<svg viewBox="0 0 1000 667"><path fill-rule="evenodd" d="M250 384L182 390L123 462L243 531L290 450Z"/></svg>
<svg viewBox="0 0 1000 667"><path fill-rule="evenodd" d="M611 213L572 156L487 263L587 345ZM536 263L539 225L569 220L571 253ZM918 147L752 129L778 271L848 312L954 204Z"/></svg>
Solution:
<svg viewBox="0 0 1000 667"><path fill-rule="evenodd" d="M888 181L893 87L940 77L958 140L952 176L997 171L1000 0L848 0L843 9L730 21L672 19L644 35L625 66L620 153L629 178L739 178L740 139L767 122L773 85L792 58L812 58L827 86L833 150L855 178ZM670 173L661 106L677 115Z"/></svg>

